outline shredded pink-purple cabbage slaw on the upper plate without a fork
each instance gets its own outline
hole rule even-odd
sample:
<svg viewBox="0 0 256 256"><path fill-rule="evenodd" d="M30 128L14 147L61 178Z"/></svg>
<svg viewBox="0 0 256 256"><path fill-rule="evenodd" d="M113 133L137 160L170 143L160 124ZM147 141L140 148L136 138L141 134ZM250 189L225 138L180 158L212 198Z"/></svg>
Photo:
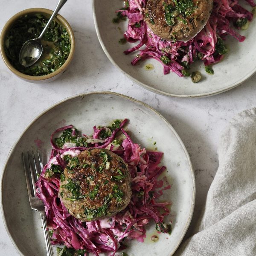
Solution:
<svg viewBox="0 0 256 256"><path fill-rule="evenodd" d="M253 0L244 1L252 7L256 6ZM221 61L224 55L216 49L217 41L225 40L227 35L231 35L239 42L243 42L245 37L232 28L232 23L239 18L246 18L249 21L253 18L252 12L240 6L238 0L213 0L212 14L204 29L187 42L171 42L155 35L144 21L147 0L127 0L126 3L127 8L117 11L129 20L124 37L130 43L139 41L139 44L124 53L140 51L131 64L135 65L140 60L154 58L163 65L164 74L170 73L171 70L180 77L184 76L182 70L198 58L204 61L205 66ZM168 57L170 62L163 63L162 56Z"/></svg>

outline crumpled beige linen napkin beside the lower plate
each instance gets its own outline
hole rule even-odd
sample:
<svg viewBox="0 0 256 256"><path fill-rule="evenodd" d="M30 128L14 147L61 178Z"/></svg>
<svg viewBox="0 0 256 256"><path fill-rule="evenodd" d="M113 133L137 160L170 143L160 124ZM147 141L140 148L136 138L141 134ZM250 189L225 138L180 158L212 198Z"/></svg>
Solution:
<svg viewBox="0 0 256 256"><path fill-rule="evenodd" d="M175 256L256 256L256 109L233 119L194 235Z"/></svg>

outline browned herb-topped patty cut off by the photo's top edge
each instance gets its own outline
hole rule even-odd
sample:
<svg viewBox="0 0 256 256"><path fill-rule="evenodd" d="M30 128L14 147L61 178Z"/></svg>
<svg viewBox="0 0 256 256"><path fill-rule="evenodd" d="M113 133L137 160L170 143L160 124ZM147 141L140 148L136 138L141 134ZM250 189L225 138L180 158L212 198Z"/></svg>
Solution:
<svg viewBox="0 0 256 256"><path fill-rule="evenodd" d="M176 1L176 0L175 0ZM145 21L160 38L189 41L207 23L212 0L148 0Z"/></svg>

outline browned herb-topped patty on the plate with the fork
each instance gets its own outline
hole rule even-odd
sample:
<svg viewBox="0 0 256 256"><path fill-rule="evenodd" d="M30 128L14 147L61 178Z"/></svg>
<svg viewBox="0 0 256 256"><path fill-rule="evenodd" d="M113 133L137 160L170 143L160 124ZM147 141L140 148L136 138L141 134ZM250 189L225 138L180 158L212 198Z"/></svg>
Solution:
<svg viewBox="0 0 256 256"><path fill-rule="evenodd" d="M59 197L71 215L95 221L116 215L131 199L131 175L121 157L89 149L70 160L61 176Z"/></svg>

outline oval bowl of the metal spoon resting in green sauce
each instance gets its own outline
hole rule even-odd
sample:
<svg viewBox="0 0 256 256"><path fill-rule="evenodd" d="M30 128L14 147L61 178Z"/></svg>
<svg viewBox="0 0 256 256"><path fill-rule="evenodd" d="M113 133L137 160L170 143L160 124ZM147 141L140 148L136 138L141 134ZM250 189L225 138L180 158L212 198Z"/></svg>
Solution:
<svg viewBox="0 0 256 256"><path fill-rule="evenodd" d="M35 64L43 53L43 47L38 39L26 41L20 49L20 64L24 67L30 67Z"/></svg>

